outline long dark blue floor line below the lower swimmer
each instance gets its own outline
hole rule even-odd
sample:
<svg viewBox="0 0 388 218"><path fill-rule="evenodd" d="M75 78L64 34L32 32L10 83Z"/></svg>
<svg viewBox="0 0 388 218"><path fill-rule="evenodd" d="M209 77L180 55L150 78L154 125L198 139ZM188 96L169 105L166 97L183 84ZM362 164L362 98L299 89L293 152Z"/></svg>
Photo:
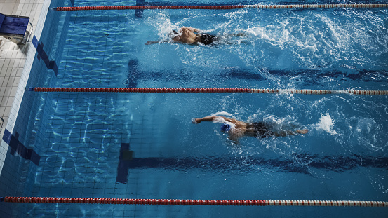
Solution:
<svg viewBox="0 0 388 218"><path fill-rule="evenodd" d="M132 155L132 154L131 154ZM316 156L309 154L297 155L299 163L294 159L279 158L266 159L256 156L237 158L235 156L207 157L207 158L133 158L126 161L126 170L134 168L163 168L169 170L190 170L193 168L203 170L220 170L228 172L248 172L260 168L271 168L285 172L311 174L310 170L323 169L334 172L344 172L354 168L383 168L388 169L388 158L370 156ZM253 168L254 167L254 168Z"/></svg>

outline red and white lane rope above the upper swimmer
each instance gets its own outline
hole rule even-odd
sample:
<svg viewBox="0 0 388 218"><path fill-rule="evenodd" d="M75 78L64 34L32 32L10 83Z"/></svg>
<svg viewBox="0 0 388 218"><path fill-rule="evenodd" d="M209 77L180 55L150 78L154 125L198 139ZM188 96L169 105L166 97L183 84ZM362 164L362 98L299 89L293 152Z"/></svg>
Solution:
<svg viewBox="0 0 388 218"><path fill-rule="evenodd" d="M299 4L299 5L231 5L231 6L81 6L58 7L56 11L91 11L91 10L146 10L146 9L213 9L230 10L241 8L257 9L292 9L292 8L387 8L388 4Z"/></svg>

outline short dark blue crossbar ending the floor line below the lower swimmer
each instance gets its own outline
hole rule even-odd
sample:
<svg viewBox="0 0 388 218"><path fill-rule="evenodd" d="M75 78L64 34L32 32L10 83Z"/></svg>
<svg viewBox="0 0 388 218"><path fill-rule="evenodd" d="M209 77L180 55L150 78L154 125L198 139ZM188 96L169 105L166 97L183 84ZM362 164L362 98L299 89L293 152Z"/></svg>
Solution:
<svg viewBox="0 0 388 218"><path fill-rule="evenodd" d="M116 182L127 183L133 151L129 149L129 143L121 143L119 166L117 167Z"/></svg>

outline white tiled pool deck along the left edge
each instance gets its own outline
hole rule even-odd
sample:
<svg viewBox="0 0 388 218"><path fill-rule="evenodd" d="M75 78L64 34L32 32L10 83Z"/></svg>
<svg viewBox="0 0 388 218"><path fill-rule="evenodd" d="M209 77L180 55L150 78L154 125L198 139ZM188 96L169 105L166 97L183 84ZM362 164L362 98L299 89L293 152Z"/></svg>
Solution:
<svg viewBox="0 0 388 218"><path fill-rule="evenodd" d="M36 53L31 41L33 36L40 39L49 4L45 0L0 0L0 13L27 16L34 27L30 42L25 45L0 36L0 117L4 120L3 123L0 119L0 174L8 150L8 144L2 140L4 130L13 131Z"/></svg>

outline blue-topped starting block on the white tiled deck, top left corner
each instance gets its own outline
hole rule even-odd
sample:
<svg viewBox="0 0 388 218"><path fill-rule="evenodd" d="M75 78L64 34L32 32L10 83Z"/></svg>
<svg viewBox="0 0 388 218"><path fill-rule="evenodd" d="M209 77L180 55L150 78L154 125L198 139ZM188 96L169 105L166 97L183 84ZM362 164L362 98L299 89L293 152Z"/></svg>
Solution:
<svg viewBox="0 0 388 218"><path fill-rule="evenodd" d="M27 30L28 24L31 25L29 31ZM0 13L0 36L4 36L18 45L25 45L26 42L29 42L32 29L34 28L29 22L29 17Z"/></svg>

